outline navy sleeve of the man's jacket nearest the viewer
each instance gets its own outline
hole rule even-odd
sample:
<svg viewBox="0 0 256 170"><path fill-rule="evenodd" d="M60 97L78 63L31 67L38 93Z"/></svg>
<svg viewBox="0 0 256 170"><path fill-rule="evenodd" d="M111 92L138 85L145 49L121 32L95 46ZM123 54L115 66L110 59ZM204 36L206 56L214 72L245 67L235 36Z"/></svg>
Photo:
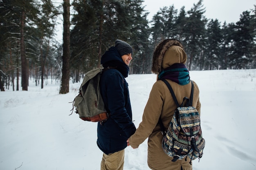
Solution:
<svg viewBox="0 0 256 170"><path fill-rule="evenodd" d="M105 80L110 117L124 131L128 139L135 132L136 128L125 108L124 77L114 72L107 76Z"/></svg>

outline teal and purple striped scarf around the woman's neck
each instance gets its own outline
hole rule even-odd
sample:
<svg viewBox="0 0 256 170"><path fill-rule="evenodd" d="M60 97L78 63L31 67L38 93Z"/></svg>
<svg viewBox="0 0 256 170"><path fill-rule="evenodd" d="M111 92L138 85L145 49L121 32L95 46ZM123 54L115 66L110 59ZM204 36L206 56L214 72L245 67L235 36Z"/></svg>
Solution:
<svg viewBox="0 0 256 170"><path fill-rule="evenodd" d="M158 75L158 79L170 79L180 85L189 84L189 70L184 64L175 63L170 67L161 71Z"/></svg>

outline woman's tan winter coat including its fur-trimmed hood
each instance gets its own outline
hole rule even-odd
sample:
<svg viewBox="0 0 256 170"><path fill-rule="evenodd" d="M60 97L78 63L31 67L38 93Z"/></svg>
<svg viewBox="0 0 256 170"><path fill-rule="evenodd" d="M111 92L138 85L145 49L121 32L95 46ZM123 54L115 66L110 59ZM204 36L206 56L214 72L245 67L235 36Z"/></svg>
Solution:
<svg viewBox="0 0 256 170"><path fill-rule="evenodd" d="M158 74L161 69L167 68L174 63L184 64L186 62L186 53L182 45L175 42L175 40L169 40L159 45L161 46L156 47L153 56L152 71L154 73ZM182 86L171 80L167 81L171 84L180 104L182 103L183 97L190 96L191 83ZM194 82L193 107L197 108L199 113L200 106L199 89ZM148 166L153 170L181 170L181 166L183 170L192 170L189 159L187 161L182 159L172 162L172 158L166 155L162 149L163 135L158 124L159 117L161 117L164 127L167 130L176 108L177 106L173 101L168 87L162 80L158 80L150 92L141 123L135 134L129 138L129 144L133 148L138 148L148 138Z"/></svg>

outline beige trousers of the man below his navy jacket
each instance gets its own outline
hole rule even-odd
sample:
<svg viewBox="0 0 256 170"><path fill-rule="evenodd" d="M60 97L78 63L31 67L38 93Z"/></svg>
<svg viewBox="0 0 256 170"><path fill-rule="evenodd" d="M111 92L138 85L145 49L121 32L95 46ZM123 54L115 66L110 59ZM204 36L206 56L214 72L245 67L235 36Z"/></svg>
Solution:
<svg viewBox="0 0 256 170"><path fill-rule="evenodd" d="M123 170L124 150L106 155L103 153L101 170Z"/></svg>

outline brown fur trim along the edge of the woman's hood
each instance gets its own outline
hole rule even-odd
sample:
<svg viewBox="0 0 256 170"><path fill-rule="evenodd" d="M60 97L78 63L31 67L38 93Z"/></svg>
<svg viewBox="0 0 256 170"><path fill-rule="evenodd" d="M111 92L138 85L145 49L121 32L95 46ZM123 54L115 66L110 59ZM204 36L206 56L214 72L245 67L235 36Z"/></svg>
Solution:
<svg viewBox="0 0 256 170"><path fill-rule="evenodd" d="M162 71L162 61L165 51L172 45L180 46L183 49L183 45L179 40L176 39L166 39L160 42L153 53L152 61L152 72L159 74Z"/></svg>

